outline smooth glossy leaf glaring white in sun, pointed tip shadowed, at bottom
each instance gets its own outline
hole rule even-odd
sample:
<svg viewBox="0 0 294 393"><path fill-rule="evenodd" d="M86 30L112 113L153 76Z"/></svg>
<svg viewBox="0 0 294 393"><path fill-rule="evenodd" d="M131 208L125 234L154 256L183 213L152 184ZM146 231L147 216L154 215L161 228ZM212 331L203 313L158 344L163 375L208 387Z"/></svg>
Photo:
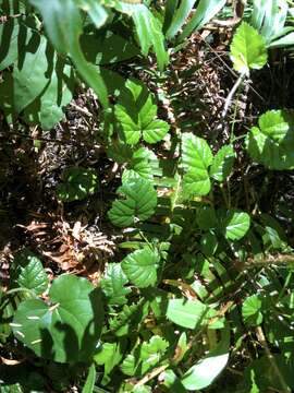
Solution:
<svg viewBox="0 0 294 393"><path fill-rule="evenodd" d="M196 391L209 386L226 366L229 350L230 331L226 329L217 347L187 370L181 380L182 384L188 391Z"/></svg>

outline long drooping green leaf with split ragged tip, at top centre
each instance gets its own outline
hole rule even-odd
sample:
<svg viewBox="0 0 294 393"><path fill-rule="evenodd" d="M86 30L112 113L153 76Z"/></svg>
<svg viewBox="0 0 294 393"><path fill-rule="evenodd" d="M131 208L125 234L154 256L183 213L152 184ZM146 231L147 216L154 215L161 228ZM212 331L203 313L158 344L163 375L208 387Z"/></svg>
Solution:
<svg viewBox="0 0 294 393"><path fill-rule="evenodd" d="M169 63L169 55L164 47L164 36L159 20L145 4L127 4L120 1L115 4L115 8L133 19L142 53L147 56L149 49L152 47L157 57L158 67L162 71L164 66Z"/></svg>

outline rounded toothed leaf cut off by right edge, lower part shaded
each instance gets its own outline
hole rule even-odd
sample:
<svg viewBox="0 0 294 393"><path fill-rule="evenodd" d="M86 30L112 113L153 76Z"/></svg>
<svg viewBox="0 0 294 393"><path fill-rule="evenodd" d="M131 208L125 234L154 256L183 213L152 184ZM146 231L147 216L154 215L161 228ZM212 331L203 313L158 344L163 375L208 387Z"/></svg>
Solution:
<svg viewBox="0 0 294 393"><path fill-rule="evenodd" d="M292 111L269 110L258 119L246 139L254 160L270 169L294 168L294 116Z"/></svg>

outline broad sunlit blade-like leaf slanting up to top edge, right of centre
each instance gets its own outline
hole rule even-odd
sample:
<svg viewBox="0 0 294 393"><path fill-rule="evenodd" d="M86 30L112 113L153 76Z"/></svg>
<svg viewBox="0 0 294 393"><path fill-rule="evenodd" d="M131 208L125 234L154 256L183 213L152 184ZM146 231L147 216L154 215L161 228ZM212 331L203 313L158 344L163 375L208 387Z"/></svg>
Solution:
<svg viewBox="0 0 294 393"><path fill-rule="evenodd" d="M201 28L209 22L225 4L226 0L200 0L193 16L179 36L177 43L183 41L193 32Z"/></svg>

